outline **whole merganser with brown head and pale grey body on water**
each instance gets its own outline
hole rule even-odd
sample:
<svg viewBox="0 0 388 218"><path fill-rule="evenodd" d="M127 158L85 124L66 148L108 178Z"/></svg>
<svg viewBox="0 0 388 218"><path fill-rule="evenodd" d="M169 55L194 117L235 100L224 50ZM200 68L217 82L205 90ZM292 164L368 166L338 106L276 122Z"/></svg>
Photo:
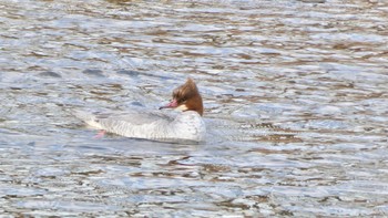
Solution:
<svg viewBox="0 0 388 218"><path fill-rule="evenodd" d="M130 111L120 114L98 115L90 112L74 111L74 115L92 127L132 138L155 141L205 139L206 127L202 120L203 103L198 89L192 79L176 87L172 101L160 107L181 111L175 118L156 112L144 113Z"/></svg>

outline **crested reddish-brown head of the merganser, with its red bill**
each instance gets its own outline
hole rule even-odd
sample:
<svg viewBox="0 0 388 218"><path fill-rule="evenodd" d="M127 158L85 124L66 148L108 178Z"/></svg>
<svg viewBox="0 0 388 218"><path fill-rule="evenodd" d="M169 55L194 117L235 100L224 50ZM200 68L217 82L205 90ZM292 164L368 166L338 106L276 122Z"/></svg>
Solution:
<svg viewBox="0 0 388 218"><path fill-rule="evenodd" d="M198 89L192 79L187 79L186 83L176 87L173 92L173 100L162 108L176 108L180 111L195 111L203 115L203 103Z"/></svg>

